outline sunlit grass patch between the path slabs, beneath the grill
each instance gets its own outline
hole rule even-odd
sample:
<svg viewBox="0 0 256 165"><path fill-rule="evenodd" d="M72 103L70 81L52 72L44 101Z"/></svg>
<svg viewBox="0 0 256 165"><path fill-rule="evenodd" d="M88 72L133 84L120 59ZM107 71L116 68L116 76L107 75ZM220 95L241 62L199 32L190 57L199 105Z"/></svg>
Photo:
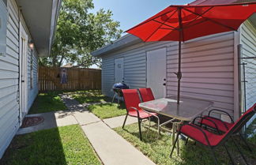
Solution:
<svg viewBox="0 0 256 165"><path fill-rule="evenodd" d="M91 111L97 117L113 118L126 114L126 108L123 103L119 106L117 103L100 103L88 106L88 111Z"/></svg>

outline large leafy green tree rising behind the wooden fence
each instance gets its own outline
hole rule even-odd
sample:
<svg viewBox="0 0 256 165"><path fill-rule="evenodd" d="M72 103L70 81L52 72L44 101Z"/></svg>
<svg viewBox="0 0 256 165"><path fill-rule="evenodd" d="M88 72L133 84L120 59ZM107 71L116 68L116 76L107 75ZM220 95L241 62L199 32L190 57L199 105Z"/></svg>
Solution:
<svg viewBox="0 0 256 165"><path fill-rule="evenodd" d="M92 0L63 0L51 55L40 58L40 65L62 66L63 62L71 62L83 67L101 66L100 58L92 57L90 52L118 39L122 30L119 22L111 18L110 10L89 13L93 8Z"/></svg>

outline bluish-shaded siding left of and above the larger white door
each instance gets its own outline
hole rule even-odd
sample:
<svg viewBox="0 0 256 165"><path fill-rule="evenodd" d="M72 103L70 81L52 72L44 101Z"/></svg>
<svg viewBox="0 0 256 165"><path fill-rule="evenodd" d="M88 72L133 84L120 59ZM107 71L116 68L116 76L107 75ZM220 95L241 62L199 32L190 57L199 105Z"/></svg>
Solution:
<svg viewBox="0 0 256 165"><path fill-rule="evenodd" d="M102 92L113 96L111 90L115 80L115 58L124 58L124 83L130 88L146 87L146 51L167 47L170 42L139 43L121 51L102 57Z"/></svg>

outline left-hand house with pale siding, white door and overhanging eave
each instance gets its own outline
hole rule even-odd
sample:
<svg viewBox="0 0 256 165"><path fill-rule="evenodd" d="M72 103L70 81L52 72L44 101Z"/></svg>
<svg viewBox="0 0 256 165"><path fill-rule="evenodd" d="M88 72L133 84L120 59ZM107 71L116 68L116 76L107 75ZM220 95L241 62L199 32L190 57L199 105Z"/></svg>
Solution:
<svg viewBox="0 0 256 165"><path fill-rule="evenodd" d="M0 0L0 158L38 94L38 57L50 52L59 6Z"/></svg>

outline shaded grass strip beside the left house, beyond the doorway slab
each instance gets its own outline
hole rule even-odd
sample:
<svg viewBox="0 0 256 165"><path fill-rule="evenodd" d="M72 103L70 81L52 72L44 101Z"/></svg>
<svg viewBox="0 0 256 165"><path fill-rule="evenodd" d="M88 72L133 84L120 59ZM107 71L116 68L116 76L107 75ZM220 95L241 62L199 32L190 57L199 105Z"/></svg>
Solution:
<svg viewBox="0 0 256 165"><path fill-rule="evenodd" d="M50 111L63 111L66 110L65 104L62 102L58 92L40 93L28 114L39 114Z"/></svg>

